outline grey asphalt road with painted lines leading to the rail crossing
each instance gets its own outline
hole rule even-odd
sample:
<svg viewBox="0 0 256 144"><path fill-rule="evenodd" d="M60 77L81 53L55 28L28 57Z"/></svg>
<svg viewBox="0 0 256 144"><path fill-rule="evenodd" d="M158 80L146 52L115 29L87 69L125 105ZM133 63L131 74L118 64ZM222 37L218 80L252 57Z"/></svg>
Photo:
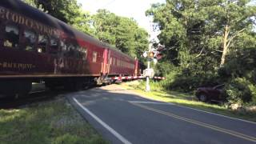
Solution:
<svg viewBox="0 0 256 144"><path fill-rule="evenodd" d="M67 94L111 143L256 143L256 123L141 98L120 86Z"/></svg>

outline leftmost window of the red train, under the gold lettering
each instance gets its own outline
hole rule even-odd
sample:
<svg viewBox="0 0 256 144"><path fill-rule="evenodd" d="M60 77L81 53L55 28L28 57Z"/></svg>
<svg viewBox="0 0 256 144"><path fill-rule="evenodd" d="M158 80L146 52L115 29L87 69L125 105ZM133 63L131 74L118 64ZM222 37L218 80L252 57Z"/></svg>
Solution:
<svg viewBox="0 0 256 144"><path fill-rule="evenodd" d="M18 47L19 42L19 30L18 26L7 25L4 34L4 46L6 47Z"/></svg>

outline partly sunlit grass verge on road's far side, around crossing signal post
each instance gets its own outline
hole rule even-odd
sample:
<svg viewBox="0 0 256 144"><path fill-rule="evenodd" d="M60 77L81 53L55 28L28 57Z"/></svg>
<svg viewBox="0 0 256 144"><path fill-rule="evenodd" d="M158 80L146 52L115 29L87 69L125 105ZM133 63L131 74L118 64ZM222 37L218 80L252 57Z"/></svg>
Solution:
<svg viewBox="0 0 256 144"><path fill-rule="evenodd" d="M241 118L248 121L256 122L256 112L246 110L230 110L225 105L218 105L214 103L198 102L194 94L185 94L176 91L164 91L154 87L151 84L151 91L145 91L145 82L126 82L121 84L127 90L134 90L143 98L149 98L160 102L170 102L179 106L187 106L198 110L205 110L215 114L222 114L233 118Z"/></svg>

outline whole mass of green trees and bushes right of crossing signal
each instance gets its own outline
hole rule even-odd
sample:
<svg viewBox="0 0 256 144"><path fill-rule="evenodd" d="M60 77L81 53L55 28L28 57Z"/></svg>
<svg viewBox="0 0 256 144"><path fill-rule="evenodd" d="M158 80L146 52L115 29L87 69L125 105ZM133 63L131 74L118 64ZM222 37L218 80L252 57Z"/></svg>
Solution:
<svg viewBox="0 0 256 144"><path fill-rule="evenodd" d="M256 6L250 2L166 0L146 11L146 15L154 18L155 29L161 30L160 42L167 47L163 62L157 66L166 75L166 82L162 82L166 89L191 91L198 86L224 82L227 85L250 82L254 98ZM176 68L169 70L166 63ZM162 69L165 66L167 71ZM238 90L249 94L247 88ZM250 101L244 94L234 95L242 102ZM238 102L233 100L234 95L230 94L230 102Z"/></svg>

